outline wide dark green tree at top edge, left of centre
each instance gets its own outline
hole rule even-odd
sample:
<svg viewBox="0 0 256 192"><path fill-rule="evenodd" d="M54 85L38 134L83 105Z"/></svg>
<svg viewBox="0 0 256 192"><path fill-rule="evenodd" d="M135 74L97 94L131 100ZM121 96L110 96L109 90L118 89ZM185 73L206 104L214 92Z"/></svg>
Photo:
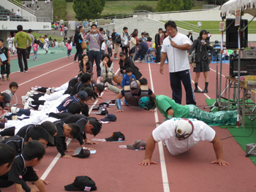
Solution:
<svg viewBox="0 0 256 192"><path fill-rule="evenodd" d="M73 9L78 20L97 19L107 0L74 0Z"/></svg>

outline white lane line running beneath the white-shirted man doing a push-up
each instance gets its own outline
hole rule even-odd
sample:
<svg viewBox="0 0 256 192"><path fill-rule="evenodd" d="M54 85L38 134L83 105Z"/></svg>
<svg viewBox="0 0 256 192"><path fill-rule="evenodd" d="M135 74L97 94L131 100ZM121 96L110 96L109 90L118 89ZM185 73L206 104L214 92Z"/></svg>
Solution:
<svg viewBox="0 0 256 192"><path fill-rule="evenodd" d="M151 67L150 67L149 63L148 63L148 69L149 69L149 76L150 76L150 82L151 82L151 90L154 93L154 85L153 85L153 80L152 80ZM157 123L159 121L157 111L154 112L154 118ZM157 124L156 126L159 126L159 124ZM160 164L161 164L161 172L162 172L162 185L164 187L164 192L170 192L167 170L166 170L166 165L165 165L165 154L164 154L164 150L162 147L162 142L158 142L158 147L159 147Z"/></svg>

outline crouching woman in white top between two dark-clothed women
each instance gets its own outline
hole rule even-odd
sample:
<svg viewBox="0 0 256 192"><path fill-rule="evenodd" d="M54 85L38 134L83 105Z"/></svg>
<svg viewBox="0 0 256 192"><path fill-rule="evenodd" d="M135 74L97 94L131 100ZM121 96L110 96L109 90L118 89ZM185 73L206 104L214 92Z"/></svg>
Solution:
<svg viewBox="0 0 256 192"><path fill-rule="evenodd" d="M113 80L113 77L115 76L113 71L113 62L110 60L110 56L108 54L103 55L102 62L99 66L102 69L102 77Z"/></svg>

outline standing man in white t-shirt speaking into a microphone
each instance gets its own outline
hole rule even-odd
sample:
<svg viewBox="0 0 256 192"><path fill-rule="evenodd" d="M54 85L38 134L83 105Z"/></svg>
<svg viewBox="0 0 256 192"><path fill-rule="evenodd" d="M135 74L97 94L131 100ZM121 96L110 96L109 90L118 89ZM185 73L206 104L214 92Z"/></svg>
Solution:
<svg viewBox="0 0 256 192"><path fill-rule="evenodd" d="M186 91L187 104L196 104L190 76L189 58L187 56L187 50L190 49L192 42L186 35L177 32L177 26L173 20L165 23L165 29L169 36L162 43L159 72L163 74L165 60L168 57L170 87L173 91L173 99L177 104L181 104L182 82Z"/></svg>

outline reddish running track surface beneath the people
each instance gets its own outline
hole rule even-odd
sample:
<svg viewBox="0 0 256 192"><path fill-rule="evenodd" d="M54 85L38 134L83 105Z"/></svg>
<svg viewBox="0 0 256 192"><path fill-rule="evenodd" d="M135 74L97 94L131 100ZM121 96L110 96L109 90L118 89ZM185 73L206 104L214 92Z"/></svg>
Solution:
<svg viewBox="0 0 256 192"><path fill-rule="evenodd" d="M72 63L72 58L68 60L65 56L66 52L59 53L59 58L49 58L52 57L50 54L39 55L42 60L29 61L29 66L34 67L23 74L15 72L18 71L17 59L11 61L10 81L19 84L18 104L21 104L20 96L29 91L31 86L58 87L78 74L78 63ZM57 60L48 62L44 59ZM36 62L42 64L37 65ZM118 61L113 62L116 72ZM157 64L136 65L143 77L148 79L148 85L154 88L156 95L172 96L167 64L164 66L164 74L159 74ZM13 68L15 66L16 69ZM216 64L210 64L210 67L209 93L195 93L197 106L202 110L206 106L205 99L216 97ZM96 66L94 66L94 74L96 74ZM195 74L193 72L191 74L194 80ZM229 74L229 64L223 64L222 74ZM2 82L1 92L7 90L9 83ZM222 77L222 90L225 86L225 77ZM204 88L203 74L199 80L199 87L202 90ZM116 94L107 90L103 93L100 102L115 98ZM185 95L182 104L186 104ZM146 141L156 127L155 122L164 118L159 112L149 113L136 107L122 106L122 109L124 112L116 113L116 107L110 106L109 113L114 113L117 120L103 124L102 131L95 138L104 139L110 137L114 131L121 131L126 137L124 142L98 142L93 146L97 153L86 159L59 158L56 147L46 148L46 155L36 169L39 169L37 172L39 177L42 176L50 181L51 184L46 186L47 191L64 191L64 185L72 183L75 177L80 175L91 177L97 185L97 191L256 191L255 165L249 158L245 158L244 150L231 139L222 141L224 157L230 163L229 166L210 164L215 160L215 153L209 142L199 142L187 153L178 156L170 155L167 147L162 147L162 143L159 144L160 147L157 144L152 160L157 161L158 164L139 166L138 163L144 158L143 150L127 150L118 146L132 144L136 139ZM91 116L104 118L94 114ZM214 127L214 130L220 138L227 137L224 129ZM89 139L93 137L89 136ZM75 150L77 147L79 143L74 139L68 145L69 150ZM165 160L160 159L160 154ZM1 191L15 191L15 189L11 187Z"/></svg>

